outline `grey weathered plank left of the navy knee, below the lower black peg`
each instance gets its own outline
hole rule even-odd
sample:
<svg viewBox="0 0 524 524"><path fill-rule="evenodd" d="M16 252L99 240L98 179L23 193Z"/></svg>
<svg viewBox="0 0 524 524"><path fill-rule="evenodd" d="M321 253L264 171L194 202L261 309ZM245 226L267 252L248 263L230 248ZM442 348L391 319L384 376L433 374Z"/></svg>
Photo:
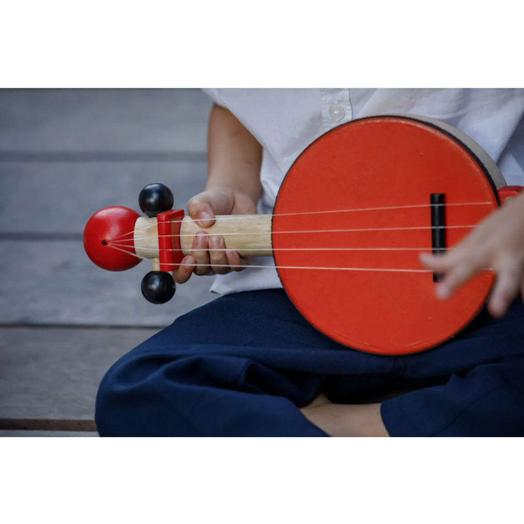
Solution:
<svg viewBox="0 0 524 524"><path fill-rule="evenodd" d="M0 329L0 419L54 420L50 429L71 428L60 420L92 421L106 370L156 331Z"/></svg>

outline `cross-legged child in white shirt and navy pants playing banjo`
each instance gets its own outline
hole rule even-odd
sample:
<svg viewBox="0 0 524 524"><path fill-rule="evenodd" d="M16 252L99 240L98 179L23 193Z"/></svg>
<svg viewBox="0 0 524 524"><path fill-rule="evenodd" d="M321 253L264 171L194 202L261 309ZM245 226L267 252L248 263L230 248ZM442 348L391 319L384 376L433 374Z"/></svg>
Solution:
<svg viewBox="0 0 524 524"><path fill-rule="evenodd" d="M329 129L374 114L447 122L524 185L524 90L206 90L208 182L188 202L217 214L271 213L300 152ZM388 357L349 350L294 309L274 269L252 268L223 238L195 236L173 276L217 274L223 296L178 318L107 372L101 435L524 435L524 195L441 257L445 299L483 267L497 271L487 313L438 348ZM195 266L199 264L198 266ZM202 267L208 264L211 267ZM257 260L257 265L272 260ZM223 265L229 267L222 267ZM511 304L511 305L510 305Z"/></svg>

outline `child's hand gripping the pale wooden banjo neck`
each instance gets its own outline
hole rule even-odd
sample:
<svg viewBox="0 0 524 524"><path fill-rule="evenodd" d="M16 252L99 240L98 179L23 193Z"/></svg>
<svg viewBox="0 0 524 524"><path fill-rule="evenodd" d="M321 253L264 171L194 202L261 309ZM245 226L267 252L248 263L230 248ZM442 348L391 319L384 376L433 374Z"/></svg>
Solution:
<svg viewBox="0 0 524 524"><path fill-rule="evenodd" d="M230 189L213 189L193 196L188 202L188 212L192 219L198 220L202 227L214 223L215 215L256 214L257 207L253 200L242 193ZM236 251L225 251L224 238L199 233L193 238L191 255L182 259L182 265L173 271L174 281L182 284L189 280L194 272L196 275L224 275L230 271L241 271L248 259L241 257ZM194 264L211 264L211 266L195 266ZM216 264L216 266L215 266ZM228 265L230 267L222 267Z"/></svg>

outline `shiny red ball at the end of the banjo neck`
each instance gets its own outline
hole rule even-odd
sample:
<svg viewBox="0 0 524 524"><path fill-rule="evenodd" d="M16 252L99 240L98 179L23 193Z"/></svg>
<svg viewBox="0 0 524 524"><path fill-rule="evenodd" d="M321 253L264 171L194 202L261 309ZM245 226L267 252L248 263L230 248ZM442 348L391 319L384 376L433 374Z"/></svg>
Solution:
<svg viewBox="0 0 524 524"><path fill-rule="evenodd" d="M109 271L136 266L140 258L133 247L133 232L139 216L119 205L97 211L84 227L85 253L97 266Z"/></svg>

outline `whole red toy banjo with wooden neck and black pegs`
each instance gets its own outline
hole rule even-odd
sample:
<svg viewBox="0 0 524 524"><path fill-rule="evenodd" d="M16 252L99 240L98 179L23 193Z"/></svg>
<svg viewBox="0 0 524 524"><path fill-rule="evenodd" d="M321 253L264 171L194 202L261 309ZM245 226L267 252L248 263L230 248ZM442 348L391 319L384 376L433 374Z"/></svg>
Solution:
<svg viewBox="0 0 524 524"><path fill-rule="evenodd" d="M442 301L434 293L439 276L421 266L419 253L453 247L520 189L506 186L495 162L459 130L426 117L375 116L332 129L305 149L271 215L217 216L202 230L243 256L272 255L269 267L293 304L331 339L408 354L463 330L495 278L482 271ZM113 271L152 259L143 294L167 302L170 272L201 228L171 210L172 194L161 184L146 186L139 203L146 217L119 206L95 213L85 251Z"/></svg>

